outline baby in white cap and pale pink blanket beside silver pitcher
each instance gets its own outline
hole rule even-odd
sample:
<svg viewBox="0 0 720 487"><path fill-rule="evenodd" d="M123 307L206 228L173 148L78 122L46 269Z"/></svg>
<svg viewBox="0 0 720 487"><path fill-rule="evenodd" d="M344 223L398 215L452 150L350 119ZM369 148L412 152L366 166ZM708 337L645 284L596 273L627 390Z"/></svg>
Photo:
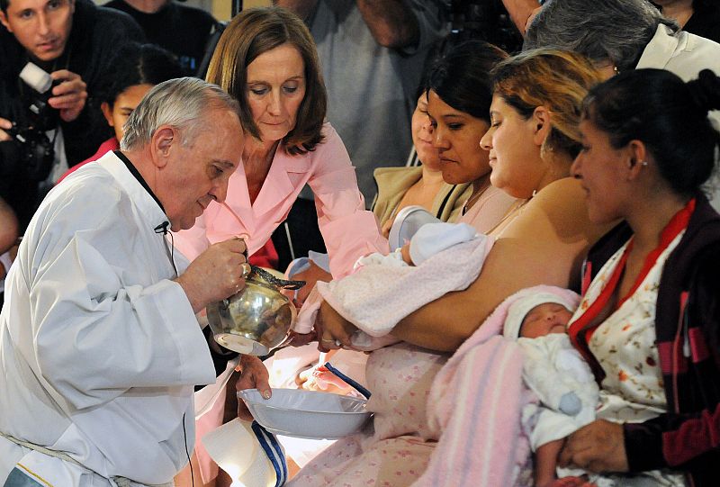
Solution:
<svg viewBox="0 0 720 487"><path fill-rule="evenodd" d="M398 321L443 294L472 284L492 242L465 223L428 223L404 250L362 257L355 274L319 282L302 307L294 330L310 333L320 302L325 300L357 327L354 348L387 346Z"/></svg>

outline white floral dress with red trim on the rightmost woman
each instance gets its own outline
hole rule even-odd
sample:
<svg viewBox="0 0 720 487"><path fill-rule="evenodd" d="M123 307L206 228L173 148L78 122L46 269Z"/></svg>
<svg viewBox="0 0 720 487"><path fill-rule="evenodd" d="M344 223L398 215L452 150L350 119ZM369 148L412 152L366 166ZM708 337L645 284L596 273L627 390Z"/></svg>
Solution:
<svg viewBox="0 0 720 487"><path fill-rule="evenodd" d="M682 220L681 213L669 225L674 227L674 231L663 231L660 247L648 257L633 290L618 302L615 311L597 328L588 326L599 309L604 307L603 301L607 302L608 295L614 293L619 285L632 239L600 269L568 326L573 339L577 338L580 329L590 328L587 335L590 337L587 339L587 347L592 355L590 362L595 363L596 375L598 366L604 375L600 381L598 419L636 423L653 419L667 411L655 345L655 310L662 268L672 250L680 243L687 226L678 225L677 220ZM667 471L632 476L590 476L590 480L603 485L686 485L681 474Z"/></svg>

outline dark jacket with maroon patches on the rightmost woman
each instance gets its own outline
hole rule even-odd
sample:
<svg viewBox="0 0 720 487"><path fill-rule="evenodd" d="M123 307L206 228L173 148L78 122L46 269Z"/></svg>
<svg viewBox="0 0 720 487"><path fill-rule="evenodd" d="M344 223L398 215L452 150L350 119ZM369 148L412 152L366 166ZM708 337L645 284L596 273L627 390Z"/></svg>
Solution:
<svg viewBox="0 0 720 487"><path fill-rule="evenodd" d="M590 249L594 274L632 236L623 222ZM697 195L695 212L662 268L656 347L668 411L623 426L631 473L671 468L696 487L717 485L720 447L720 215ZM584 342L587 344L587 341ZM686 350L686 347L688 350Z"/></svg>

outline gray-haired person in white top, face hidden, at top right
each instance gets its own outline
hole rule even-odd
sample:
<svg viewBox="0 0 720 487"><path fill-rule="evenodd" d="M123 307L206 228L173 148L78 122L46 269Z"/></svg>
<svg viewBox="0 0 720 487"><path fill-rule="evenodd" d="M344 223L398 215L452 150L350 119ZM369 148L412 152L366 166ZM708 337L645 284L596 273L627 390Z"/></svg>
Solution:
<svg viewBox="0 0 720 487"><path fill-rule="evenodd" d="M705 68L720 72L720 44L680 30L647 0L547 2L527 29L524 49L549 47L580 52L605 78L635 68L666 69L685 81ZM720 111L711 111L710 120L720 127ZM713 193L718 209L720 190Z"/></svg>

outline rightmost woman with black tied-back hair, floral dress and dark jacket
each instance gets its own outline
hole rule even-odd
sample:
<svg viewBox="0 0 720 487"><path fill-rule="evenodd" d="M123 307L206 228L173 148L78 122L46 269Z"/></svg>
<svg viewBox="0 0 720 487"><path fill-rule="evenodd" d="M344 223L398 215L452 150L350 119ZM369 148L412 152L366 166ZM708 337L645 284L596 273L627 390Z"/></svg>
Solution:
<svg viewBox="0 0 720 487"><path fill-rule="evenodd" d="M603 401L561 463L716 485L720 215L700 187L717 163L720 134L707 113L718 108L709 70L689 83L628 71L585 99L572 171L591 221L625 222L591 249L585 275L594 279L569 325Z"/></svg>

